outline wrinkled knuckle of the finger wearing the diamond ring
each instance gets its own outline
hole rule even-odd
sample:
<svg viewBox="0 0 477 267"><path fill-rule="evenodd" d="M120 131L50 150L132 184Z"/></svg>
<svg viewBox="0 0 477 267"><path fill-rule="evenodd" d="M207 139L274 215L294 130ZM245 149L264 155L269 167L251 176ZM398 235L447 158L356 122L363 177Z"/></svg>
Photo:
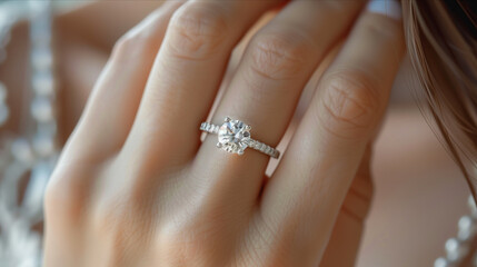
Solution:
<svg viewBox="0 0 477 267"><path fill-rule="evenodd" d="M250 49L252 71L271 80L297 77L304 70L310 51L308 41L297 33L260 34Z"/></svg>

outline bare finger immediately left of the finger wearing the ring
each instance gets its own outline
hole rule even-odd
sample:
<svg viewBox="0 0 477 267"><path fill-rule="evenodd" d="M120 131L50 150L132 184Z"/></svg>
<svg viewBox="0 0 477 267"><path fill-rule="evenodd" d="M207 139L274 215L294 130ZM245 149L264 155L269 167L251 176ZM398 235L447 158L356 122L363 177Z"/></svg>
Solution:
<svg viewBox="0 0 477 267"><path fill-rule="evenodd" d="M230 53L246 30L279 0L189 1L171 19L125 155L168 166L189 160ZM141 167L139 167L141 168ZM158 166L159 168L159 166Z"/></svg>

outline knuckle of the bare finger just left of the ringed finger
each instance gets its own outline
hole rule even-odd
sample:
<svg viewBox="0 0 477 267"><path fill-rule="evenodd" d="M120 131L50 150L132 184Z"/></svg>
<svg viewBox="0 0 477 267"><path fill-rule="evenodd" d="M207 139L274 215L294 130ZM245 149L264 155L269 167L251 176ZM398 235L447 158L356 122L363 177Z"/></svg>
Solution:
<svg viewBox="0 0 477 267"><path fill-rule="evenodd" d="M172 16L169 30L168 48L173 56L205 59L226 40L227 18L220 4L190 2Z"/></svg>

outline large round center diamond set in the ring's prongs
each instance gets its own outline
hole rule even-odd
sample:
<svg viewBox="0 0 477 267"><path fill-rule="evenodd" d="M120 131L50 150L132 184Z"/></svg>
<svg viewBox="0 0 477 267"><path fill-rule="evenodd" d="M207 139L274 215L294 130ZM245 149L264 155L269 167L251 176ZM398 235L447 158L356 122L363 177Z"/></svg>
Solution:
<svg viewBox="0 0 477 267"><path fill-rule="evenodd" d="M242 155L250 140L250 126L240 120L226 118L226 122L219 128L218 136L218 147L227 152Z"/></svg>

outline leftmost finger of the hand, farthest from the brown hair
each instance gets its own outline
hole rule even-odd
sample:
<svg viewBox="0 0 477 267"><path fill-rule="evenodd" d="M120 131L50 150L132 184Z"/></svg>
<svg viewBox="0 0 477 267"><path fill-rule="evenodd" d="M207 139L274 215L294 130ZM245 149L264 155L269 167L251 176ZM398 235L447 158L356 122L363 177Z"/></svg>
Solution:
<svg viewBox="0 0 477 267"><path fill-rule="evenodd" d="M168 2L116 44L66 150L76 157L105 158L117 151L131 128L166 26L180 1Z"/></svg>

